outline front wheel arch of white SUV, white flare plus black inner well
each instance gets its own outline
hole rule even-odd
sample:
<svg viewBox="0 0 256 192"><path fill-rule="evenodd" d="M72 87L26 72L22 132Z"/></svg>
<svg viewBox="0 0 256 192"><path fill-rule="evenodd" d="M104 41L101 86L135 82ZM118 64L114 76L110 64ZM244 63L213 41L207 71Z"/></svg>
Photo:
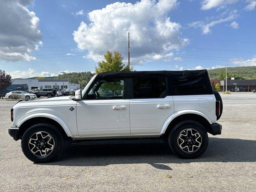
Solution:
<svg viewBox="0 0 256 192"><path fill-rule="evenodd" d="M32 114L24 118L22 121L20 121L20 123L17 126L19 128L18 137L21 138L24 132L32 124L37 124L40 122L53 124L60 130L60 132L62 132L62 134L65 137L72 137L72 134L67 124L61 118L52 114L45 114L45 113Z"/></svg>

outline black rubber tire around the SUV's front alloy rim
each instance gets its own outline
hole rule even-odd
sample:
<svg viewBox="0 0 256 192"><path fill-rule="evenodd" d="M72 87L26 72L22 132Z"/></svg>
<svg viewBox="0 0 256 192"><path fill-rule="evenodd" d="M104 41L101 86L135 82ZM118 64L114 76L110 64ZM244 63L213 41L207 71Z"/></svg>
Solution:
<svg viewBox="0 0 256 192"><path fill-rule="evenodd" d="M45 153L45 156L40 156L40 151L37 152L36 154L33 154L32 151L30 150L31 144L29 143L30 138L34 136L37 132L43 132L43 133L48 133L50 136L52 136L53 139L53 150L50 150L49 154L47 152ZM36 135L37 138L39 136ZM40 141L39 141L40 142ZM46 142L46 141L44 141ZM42 143L42 142L40 142ZM35 143L36 145L36 143ZM40 146L40 145L39 145ZM39 147L38 146L38 147ZM63 152L64 149L64 136L61 134L61 132L52 124L47 124L47 123L38 123L30 126L28 130L24 133L21 139L21 148L26 156L30 161L36 162L36 163L46 163L46 162L51 162L55 160L58 156L60 156Z"/></svg>

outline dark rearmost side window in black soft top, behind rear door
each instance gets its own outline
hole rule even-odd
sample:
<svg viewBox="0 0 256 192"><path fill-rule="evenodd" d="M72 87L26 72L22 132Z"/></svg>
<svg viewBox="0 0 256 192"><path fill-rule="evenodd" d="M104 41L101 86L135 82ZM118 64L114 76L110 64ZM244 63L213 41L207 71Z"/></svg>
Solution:
<svg viewBox="0 0 256 192"><path fill-rule="evenodd" d="M199 95L208 92L204 77L178 77L174 78L175 95Z"/></svg>

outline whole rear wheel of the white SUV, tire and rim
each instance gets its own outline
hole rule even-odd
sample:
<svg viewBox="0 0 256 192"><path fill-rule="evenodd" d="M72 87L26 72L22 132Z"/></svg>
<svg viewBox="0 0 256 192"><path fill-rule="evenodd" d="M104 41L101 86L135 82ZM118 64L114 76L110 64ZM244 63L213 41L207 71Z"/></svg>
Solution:
<svg viewBox="0 0 256 192"><path fill-rule="evenodd" d="M168 144L180 158L197 158L208 146L208 134L200 123L186 120L174 126L168 136Z"/></svg>

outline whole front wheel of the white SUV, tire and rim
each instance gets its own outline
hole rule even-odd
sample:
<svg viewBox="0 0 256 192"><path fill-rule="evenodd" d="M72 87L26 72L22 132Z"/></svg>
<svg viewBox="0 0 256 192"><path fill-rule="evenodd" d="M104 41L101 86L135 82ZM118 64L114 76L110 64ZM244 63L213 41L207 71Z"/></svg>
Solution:
<svg viewBox="0 0 256 192"><path fill-rule="evenodd" d="M21 148L33 162L51 162L62 154L64 137L52 124L34 124L22 136Z"/></svg>

